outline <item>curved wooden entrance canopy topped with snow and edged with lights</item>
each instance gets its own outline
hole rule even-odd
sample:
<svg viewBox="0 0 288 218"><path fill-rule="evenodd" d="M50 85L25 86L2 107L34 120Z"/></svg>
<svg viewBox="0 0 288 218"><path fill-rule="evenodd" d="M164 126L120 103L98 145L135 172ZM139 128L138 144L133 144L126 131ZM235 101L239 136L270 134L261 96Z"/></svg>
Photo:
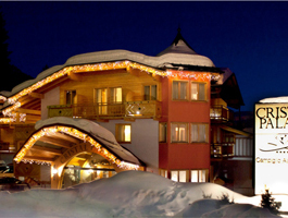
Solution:
<svg viewBox="0 0 288 218"><path fill-rule="evenodd" d="M90 120L63 117L38 121L36 131L16 153L14 160L51 164L82 143L89 144L96 153L120 168L137 169L143 166L107 129Z"/></svg>

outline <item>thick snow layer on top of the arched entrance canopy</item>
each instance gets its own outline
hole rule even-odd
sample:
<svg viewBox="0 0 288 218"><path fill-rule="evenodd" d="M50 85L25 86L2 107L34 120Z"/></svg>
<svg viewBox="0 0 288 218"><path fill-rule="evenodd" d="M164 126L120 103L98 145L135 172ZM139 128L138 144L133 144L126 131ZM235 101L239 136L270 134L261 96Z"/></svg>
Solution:
<svg viewBox="0 0 288 218"><path fill-rule="evenodd" d="M88 133L91 137L104 145L110 152L124 161L141 166L142 164L128 150L123 148L115 140L114 135L98 123L86 119L73 119L65 117L54 117L46 120L39 120L35 124L35 129L39 130L49 125L67 125L74 126L80 131Z"/></svg>

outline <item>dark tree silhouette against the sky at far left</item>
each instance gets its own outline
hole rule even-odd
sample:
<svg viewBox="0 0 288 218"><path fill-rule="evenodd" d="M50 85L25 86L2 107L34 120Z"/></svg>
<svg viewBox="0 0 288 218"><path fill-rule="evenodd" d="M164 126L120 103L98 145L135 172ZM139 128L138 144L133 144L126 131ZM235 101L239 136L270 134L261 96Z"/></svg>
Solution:
<svg viewBox="0 0 288 218"><path fill-rule="evenodd" d="M2 12L0 11L0 92L11 90L20 83L33 78L32 76L23 73L18 68L10 63L9 56L12 52L8 49L8 39L9 36L5 29L5 21L3 19Z"/></svg>

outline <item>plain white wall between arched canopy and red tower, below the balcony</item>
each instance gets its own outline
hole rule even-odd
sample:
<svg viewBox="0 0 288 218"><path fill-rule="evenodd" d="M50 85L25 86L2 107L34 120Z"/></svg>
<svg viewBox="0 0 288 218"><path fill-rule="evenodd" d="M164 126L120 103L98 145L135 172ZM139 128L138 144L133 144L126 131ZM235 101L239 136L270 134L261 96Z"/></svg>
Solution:
<svg viewBox="0 0 288 218"><path fill-rule="evenodd" d="M135 122L110 120L98 122L115 135L116 123L132 124L132 143L121 144L147 165L147 171L159 173L159 122L152 119L136 119Z"/></svg>

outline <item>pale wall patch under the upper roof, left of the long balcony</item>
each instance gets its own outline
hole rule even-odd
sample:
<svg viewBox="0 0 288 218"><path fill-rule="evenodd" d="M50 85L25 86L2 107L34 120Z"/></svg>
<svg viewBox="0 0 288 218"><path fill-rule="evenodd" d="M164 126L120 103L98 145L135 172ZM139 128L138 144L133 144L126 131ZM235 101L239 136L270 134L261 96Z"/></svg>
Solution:
<svg viewBox="0 0 288 218"><path fill-rule="evenodd" d="M45 94L43 99L41 99L41 120L48 118L47 106L59 105L60 104L60 87L55 87Z"/></svg>

